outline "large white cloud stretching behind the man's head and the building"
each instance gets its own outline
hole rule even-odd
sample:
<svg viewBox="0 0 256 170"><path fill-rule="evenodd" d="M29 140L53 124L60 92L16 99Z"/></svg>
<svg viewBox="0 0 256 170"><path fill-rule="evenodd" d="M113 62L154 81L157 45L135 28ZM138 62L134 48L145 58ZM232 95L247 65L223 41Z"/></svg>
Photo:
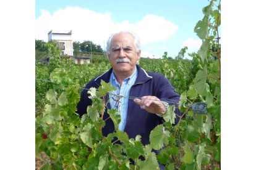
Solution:
<svg viewBox="0 0 256 170"><path fill-rule="evenodd" d="M81 7L66 7L49 14L41 10L41 15L35 21L35 39L48 41L50 30L68 32L72 30L73 41L90 40L105 47L108 37L118 30L134 30L139 34L142 45L150 42L166 41L174 36L178 26L156 15L145 15L136 23L128 20L116 22L111 13L97 13Z"/></svg>

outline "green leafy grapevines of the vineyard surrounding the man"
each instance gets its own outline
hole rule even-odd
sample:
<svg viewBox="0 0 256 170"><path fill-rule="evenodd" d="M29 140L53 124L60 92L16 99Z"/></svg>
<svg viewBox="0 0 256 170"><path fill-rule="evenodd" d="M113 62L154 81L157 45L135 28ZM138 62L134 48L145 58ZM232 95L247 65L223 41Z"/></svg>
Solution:
<svg viewBox="0 0 256 170"><path fill-rule="evenodd" d="M90 64L76 65L61 59L54 44L46 44L52 56L49 65L36 63L35 67L35 153L36 159L43 161L36 168L159 169L161 163L166 169L221 169L221 4L216 3L203 7L204 17L195 25L202 46L189 54L192 60L184 59L187 47L175 59L168 59L166 52L163 59L140 59L140 67L163 74L173 84L181 95L179 110L183 113L174 126L177 115L169 105L164 123L151 131L150 144L145 146L140 136L129 139L126 132L118 130L120 116L115 109L108 114L116 131L102 135L103 99L113 90L109 83L88 89L92 106L82 118L75 113L85 84L111 68L108 59L93 57ZM196 103L207 108L196 111ZM161 152L156 155L152 149Z"/></svg>

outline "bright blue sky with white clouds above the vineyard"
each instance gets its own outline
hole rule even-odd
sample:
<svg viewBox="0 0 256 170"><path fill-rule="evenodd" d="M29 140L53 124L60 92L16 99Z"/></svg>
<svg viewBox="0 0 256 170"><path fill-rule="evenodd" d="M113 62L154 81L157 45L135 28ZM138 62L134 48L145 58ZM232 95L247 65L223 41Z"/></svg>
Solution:
<svg viewBox="0 0 256 170"><path fill-rule="evenodd" d="M142 57L176 57L182 47L197 52L202 41L194 33L207 0L161 1L35 1L35 39L48 42L48 32L67 33L73 41L92 41L105 49L109 36L120 30L137 33ZM188 55L187 59L191 59Z"/></svg>

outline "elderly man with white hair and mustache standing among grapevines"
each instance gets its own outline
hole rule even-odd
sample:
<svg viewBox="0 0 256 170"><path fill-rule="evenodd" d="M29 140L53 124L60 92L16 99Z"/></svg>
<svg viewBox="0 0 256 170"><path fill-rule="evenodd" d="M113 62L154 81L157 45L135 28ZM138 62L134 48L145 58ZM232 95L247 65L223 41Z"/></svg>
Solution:
<svg viewBox="0 0 256 170"><path fill-rule="evenodd" d="M166 112L166 105L179 102L180 96L174 92L174 87L163 75L145 71L136 65L140 59L140 40L137 34L121 31L111 35L107 42L106 53L112 68L92 79L85 88L98 88L101 79L116 87L116 91L111 93L118 95L109 94L110 102L107 108L117 108L119 111L120 131L126 132L129 138L142 136L142 144L147 145L150 143L151 130L163 123L162 117ZM117 99L118 96L126 97ZM139 99L129 99L129 96ZM79 115L86 113L88 105L92 105L92 100L88 99L87 90L83 90L77 105L77 113ZM177 109L176 114L181 115ZM102 129L103 136L114 132L114 123L108 117L108 113L104 113L103 119L106 119L106 124ZM178 119L176 116L176 123Z"/></svg>

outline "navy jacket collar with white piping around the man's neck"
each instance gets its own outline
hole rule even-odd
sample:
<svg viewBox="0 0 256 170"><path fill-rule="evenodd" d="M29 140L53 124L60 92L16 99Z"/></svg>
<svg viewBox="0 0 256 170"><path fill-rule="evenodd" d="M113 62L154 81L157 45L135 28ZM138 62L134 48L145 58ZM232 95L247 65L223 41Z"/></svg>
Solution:
<svg viewBox="0 0 256 170"><path fill-rule="evenodd" d="M139 65L136 65L136 67L137 67L137 71L138 71L138 76L137 76L137 79L134 84L142 84L152 78L152 76L149 76L148 73L143 68L139 67ZM106 83L109 83L109 78L110 78L112 71L113 71L113 68L110 68L108 71L103 73L103 75L100 75L97 78L95 78L95 80L94 80L95 83L98 86L100 86L101 79L103 81L105 81Z"/></svg>

